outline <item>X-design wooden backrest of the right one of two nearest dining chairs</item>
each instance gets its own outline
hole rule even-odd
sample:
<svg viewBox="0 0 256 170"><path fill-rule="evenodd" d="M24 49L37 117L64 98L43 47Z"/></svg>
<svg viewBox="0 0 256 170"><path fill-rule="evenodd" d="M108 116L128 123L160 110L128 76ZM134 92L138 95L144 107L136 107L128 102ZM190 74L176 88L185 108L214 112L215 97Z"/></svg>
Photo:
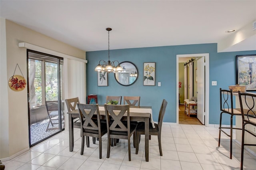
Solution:
<svg viewBox="0 0 256 170"><path fill-rule="evenodd" d="M129 105L104 105L107 119L107 127L109 130L113 131L127 131L130 133L130 111ZM121 121L124 114L127 113L127 127L124 125L124 122ZM112 124L110 125L110 116L113 119ZM129 135L128 135L129 136Z"/></svg>

